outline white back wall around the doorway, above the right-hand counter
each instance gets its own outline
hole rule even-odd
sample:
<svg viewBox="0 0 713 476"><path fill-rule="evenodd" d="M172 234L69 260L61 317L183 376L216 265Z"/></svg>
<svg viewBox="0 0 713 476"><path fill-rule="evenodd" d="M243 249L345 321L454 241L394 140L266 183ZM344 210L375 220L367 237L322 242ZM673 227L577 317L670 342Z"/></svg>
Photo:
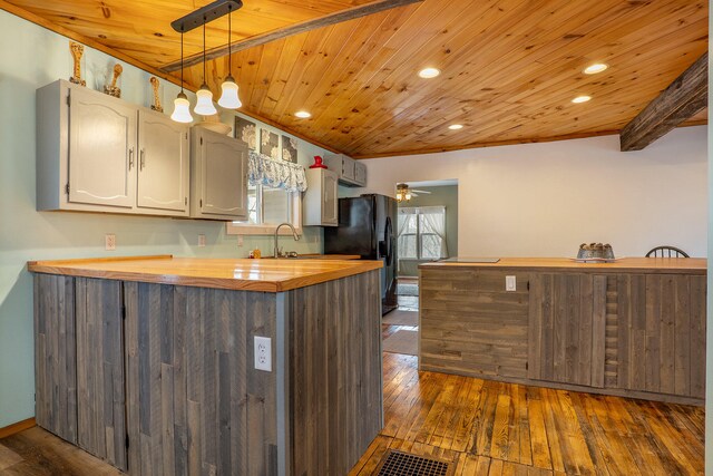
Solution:
<svg viewBox="0 0 713 476"><path fill-rule="evenodd" d="M365 163L369 191L388 195L398 182L457 178L461 256L574 256L585 242L706 256L706 142L699 126L641 152L605 136Z"/></svg>

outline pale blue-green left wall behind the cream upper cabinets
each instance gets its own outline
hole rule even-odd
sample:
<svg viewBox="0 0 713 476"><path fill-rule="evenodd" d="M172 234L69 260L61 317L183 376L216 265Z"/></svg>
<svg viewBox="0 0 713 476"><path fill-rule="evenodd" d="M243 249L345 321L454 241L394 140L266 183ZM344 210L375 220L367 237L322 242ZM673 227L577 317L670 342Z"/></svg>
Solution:
<svg viewBox="0 0 713 476"><path fill-rule="evenodd" d="M270 250L272 239L225 234L218 222L145 216L37 212L35 205L35 90L71 75L69 40L0 10L0 428L35 415L32 280L28 260L80 256L165 254L204 258L244 258L254 247ZM87 48L87 85L113 58ZM123 64L121 96L148 106L150 75ZM168 114L178 88L162 81ZM214 91L215 93L215 91ZM195 97L191 96L192 104ZM225 115L224 115L225 117ZM264 125L258 123L260 127ZM268 127L270 128L270 127ZM276 132L276 129L273 129ZM324 150L300 140L300 162ZM117 250L104 251L105 233L115 233ZM197 247L205 234L206 247ZM291 249L321 250L321 229L305 229Z"/></svg>

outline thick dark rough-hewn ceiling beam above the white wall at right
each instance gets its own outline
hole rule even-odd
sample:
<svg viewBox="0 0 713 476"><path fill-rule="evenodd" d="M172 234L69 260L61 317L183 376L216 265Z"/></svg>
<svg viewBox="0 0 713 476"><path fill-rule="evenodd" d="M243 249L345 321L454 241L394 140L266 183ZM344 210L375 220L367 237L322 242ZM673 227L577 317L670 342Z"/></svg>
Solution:
<svg viewBox="0 0 713 476"><path fill-rule="evenodd" d="M623 152L641 150L707 106L709 54L683 71L621 133Z"/></svg>

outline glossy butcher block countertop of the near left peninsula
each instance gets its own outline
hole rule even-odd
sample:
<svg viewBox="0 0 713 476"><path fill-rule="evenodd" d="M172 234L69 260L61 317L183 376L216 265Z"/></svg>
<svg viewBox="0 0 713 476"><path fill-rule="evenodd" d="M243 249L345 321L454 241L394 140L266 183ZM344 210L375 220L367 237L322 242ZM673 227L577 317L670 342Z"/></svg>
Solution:
<svg viewBox="0 0 713 476"><path fill-rule="evenodd" d="M247 260L158 256L30 261L36 273L197 288L281 292L382 268L368 260Z"/></svg>

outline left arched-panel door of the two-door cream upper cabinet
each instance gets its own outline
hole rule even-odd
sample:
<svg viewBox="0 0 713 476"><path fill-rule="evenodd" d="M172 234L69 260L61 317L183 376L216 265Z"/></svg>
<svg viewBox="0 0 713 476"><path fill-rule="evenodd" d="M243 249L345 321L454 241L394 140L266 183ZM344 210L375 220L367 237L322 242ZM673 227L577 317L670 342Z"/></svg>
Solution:
<svg viewBox="0 0 713 476"><path fill-rule="evenodd" d="M69 201L134 207L136 107L80 88L69 103Z"/></svg>

